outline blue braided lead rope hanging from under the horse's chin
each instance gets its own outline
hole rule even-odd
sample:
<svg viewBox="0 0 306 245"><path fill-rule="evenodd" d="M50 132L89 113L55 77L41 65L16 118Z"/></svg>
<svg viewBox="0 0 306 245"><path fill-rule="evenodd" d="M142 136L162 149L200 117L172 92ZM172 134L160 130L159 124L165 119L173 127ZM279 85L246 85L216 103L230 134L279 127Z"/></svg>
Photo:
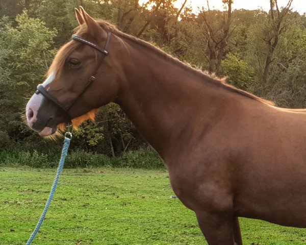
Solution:
<svg viewBox="0 0 306 245"><path fill-rule="evenodd" d="M43 220L46 216L46 213L49 209L49 206L51 204L51 201L52 201L52 198L54 196L54 193L56 191L56 187L57 187L57 184L59 182L59 179L60 179L60 175L62 173L62 170L63 170L63 166L64 166L64 162L65 162L65 159L66 159L66 156L67 156L67 153L68 153L68 149L69 149L69 145L70 145L70 140L72 138L72 134L70 132L67 132L65 134L65 140L64 140L64 146L63 146L63 150L62 150L62 155L61 155L61 160L60 160L60 163L59 163L59 166L58 166L58 169L57 169L57 173L56 173L56 177L55 177L55 180L53 182L53 186L51 188L51 191L50 191L50 194L49 194L49 198L46 202L46 205L45 205L45 208L38 220L38 223L35 227L35 230L33 231L32 235L30 236L29 240L27 241L26 245L30 245L31 242L34 240L34 238L36 237L37 233L39 232L39 229L43 223Z"/></svg>

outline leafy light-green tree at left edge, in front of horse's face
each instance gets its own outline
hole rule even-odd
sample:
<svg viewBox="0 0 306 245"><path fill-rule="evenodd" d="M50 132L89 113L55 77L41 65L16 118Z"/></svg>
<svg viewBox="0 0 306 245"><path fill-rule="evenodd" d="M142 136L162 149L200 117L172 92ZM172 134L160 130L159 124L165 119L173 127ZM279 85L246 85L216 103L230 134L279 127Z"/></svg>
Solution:
<svg viewBox="0 0 306 245"><path fill-rule="evenodd" d="M48 30L44 22L30 18L28 11L17 15L17 26L2 18L0 29L0 131L20 136L24 129L20 119L21 108L38 83L43 80L46 63L54 55L50 50L56 30Z"/></svg>

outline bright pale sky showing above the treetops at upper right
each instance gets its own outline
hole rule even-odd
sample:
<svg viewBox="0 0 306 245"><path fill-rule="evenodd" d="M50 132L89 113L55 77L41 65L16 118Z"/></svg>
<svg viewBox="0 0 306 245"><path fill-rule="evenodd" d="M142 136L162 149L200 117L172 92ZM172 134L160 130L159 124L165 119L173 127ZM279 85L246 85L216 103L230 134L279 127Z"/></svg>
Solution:
<svg viewBox="0 0 306 245"><path fill-rule="evenodd" d="M278 7L285 7L289 0L278 0ZM174 3L175 7L181 8L184 0L176 0ZM187 5L191 6L193 11L197 13L198 8L202 8L203 6L207 8L207 0L188 0ZM224 6L222 4L222 0L209 0L210 9L220 9L224 10ZM298 11L300 14L306 12L306 1L305 0L293 0L292 7L294 11ZM265 11L269 11L270 9L270 1L269 0L233 0L233 9L248 9L254 10L262 8Z"/></svg>

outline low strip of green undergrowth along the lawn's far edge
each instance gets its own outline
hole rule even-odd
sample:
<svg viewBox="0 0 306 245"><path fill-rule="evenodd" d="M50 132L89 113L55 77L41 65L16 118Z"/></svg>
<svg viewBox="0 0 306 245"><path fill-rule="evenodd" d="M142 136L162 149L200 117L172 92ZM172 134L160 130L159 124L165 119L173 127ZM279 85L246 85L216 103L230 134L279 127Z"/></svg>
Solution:
<svg viewBox="0 0 306 245"><path fill-rule="evenodd" d="M57 167L60 152L41 153L37 150L10 149L0 151L0 165L30 166L35 168ZM70 151L65 161L65 168L78 167L131 167L131 168L164 168L159 155L151 149L126 152L121 157L109 157L104 154L85 152L84 150Z"/></svg>

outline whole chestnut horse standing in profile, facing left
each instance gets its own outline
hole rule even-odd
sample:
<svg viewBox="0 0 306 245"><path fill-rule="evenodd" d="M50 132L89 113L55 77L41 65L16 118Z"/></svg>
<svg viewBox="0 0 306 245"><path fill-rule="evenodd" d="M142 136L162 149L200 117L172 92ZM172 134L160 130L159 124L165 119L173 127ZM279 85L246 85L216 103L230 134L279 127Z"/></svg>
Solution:
<svg viewBox="0 0 306 245"><path fill-rule="evenodd" d="M238 217L306 228L305 110L277 108L75 13L76 36L27 105L33 130L51 135L117 103L167 164L210 245L242 244Z"/></svg>

